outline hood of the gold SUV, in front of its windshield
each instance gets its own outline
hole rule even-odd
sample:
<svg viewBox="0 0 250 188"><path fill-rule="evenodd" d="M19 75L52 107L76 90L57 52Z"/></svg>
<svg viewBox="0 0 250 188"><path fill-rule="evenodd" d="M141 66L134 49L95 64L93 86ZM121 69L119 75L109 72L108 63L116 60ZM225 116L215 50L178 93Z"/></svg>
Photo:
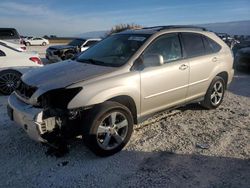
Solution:
<svg viewBox="0 0 250 188"><path fill-rule="evenodd" d="M63 88L116 70L77 61L67 60L27 72L22 76L24 83L42 90Z"/></svg>

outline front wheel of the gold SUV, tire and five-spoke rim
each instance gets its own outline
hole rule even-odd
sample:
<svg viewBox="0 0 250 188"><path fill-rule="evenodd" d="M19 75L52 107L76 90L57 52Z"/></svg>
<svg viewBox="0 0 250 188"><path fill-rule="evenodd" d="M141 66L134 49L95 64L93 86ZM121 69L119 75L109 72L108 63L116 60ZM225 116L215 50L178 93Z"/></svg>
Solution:
<svg viewBox="0 0 250 188"><path fill-rule="evenodd" d="M87 117L84 120L83 139L96 155L113 155L128 143L133 132L133 116L127 107L107 101L95 106Z"/></svg>

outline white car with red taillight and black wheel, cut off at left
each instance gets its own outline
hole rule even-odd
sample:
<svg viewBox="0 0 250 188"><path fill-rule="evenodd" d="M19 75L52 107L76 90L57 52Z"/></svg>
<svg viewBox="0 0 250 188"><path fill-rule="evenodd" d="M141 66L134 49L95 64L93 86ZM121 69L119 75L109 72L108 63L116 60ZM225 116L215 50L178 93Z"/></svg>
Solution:
<svg viewBox="0 0 250 188"><path fill-rule="evenodd" d="M0 93L11 94L20 77L27 71L43 66L35 52L21 52L0 43Z"/></svg>

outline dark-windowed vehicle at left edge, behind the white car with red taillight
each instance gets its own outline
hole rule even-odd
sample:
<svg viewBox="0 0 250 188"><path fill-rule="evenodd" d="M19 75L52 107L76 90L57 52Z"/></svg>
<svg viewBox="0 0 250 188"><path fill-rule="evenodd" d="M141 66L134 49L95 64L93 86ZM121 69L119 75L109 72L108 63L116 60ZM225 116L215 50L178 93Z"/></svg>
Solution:
<svg viewBox="0 0 250 188"><path fill-rule="evenodd" d="M0 28L0 40L5 40L14 44L23 44L19 33L14 28Z"/></svg>

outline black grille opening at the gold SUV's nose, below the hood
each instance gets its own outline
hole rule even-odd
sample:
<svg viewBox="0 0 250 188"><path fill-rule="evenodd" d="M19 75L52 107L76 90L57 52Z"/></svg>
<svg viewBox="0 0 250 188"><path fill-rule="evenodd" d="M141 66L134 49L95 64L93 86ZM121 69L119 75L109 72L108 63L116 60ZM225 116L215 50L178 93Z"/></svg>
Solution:
<svg viewBox="0 0 250 188"><path fill-rule="evenodd" d="M26 83L24 83L22 80L18 82L16 92L25 99L29 99L37 90L36 87L29 86Z"/></svg>

